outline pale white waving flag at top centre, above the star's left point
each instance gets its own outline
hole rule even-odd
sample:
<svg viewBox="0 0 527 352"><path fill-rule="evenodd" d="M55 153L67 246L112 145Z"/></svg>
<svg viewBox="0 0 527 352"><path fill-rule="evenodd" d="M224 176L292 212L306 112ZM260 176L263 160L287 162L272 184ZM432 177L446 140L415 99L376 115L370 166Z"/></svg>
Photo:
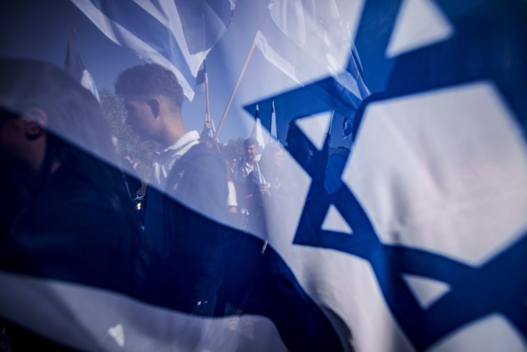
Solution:
<svg viewBox="0 0 527 352"><path fill-rule="evenodd" d="M361 76L346 71L348 60L355 60L352 42L362 5L356 0L273 0L254 42L298 83L334 76L363 99L369 92Z"/></svg>

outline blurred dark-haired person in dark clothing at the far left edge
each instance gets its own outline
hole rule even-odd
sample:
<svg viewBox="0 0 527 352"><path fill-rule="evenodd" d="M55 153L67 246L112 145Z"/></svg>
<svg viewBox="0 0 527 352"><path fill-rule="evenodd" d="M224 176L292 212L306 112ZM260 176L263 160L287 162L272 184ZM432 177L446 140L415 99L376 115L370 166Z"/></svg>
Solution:
<svg viewBox="0 0 527 352"><path fill-rule="evenodd" d="M46 62L0 59L0 152L18 201L3 212L0 270L143 299L150 250L92 93ZM22 322L65 314L49 312ZM15 323L5 323L15 351L52 344Z"/></svg>

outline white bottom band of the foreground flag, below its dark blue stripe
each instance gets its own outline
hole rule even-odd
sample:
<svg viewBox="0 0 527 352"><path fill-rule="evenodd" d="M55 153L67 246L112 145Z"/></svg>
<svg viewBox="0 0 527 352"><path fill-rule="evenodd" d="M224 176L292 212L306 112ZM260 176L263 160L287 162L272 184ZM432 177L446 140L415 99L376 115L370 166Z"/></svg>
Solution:
<svg viewBox="0 0 527 352"><path fill-rule="evenodd" d="M0 283L10 287L0 292L4 318L72 349L287 351L264 317L190 316L96 287L6 271ZM53 318L35 324L46 316Z"/></svg>

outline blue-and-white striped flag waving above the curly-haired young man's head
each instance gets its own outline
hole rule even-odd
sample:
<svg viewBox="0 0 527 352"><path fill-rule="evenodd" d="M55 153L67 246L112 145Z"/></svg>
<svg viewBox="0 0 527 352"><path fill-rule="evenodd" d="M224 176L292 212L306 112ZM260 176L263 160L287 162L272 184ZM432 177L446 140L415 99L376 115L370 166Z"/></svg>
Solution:
<svg viewBox="0 0 527 352"><path fill-rule="evenodd" d="M201 62L227 30L234 0L71 0L115 42L171 69L192 100Z"/></svg>

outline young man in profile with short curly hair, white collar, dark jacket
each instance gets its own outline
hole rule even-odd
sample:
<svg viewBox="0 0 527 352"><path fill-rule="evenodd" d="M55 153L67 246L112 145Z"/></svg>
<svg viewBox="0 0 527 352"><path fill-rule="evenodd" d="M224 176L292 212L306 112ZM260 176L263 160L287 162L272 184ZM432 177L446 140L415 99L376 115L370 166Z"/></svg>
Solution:
<svg viewBox="0 0 527 352"><path fill-rule="evenodd" d="M227 177L218 151L187 131L183 92L173 72L156 64L126 69L116 81L127 122L145 139L162 146L146 194L145 231L174 268L180 309L212 315L223 280L221 228Z"/></svg>

